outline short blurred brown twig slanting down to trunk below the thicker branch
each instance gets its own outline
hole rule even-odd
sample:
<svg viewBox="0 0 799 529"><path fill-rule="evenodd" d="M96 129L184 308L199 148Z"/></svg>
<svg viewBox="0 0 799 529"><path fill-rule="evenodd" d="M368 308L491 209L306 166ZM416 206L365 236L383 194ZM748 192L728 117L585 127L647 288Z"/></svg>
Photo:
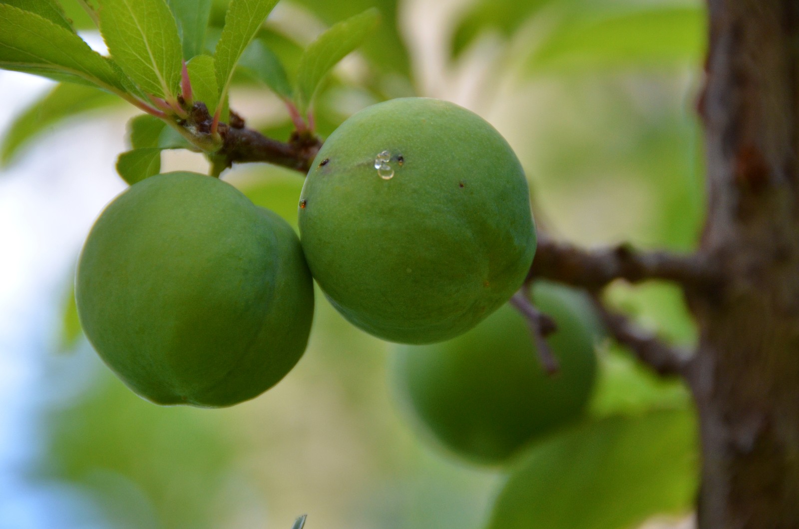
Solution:
<svg viewBox="0 0 799 529"><path fill-rule="evenodd" d="M661 376L687 376L691 359L689 352L666 344L653 332L639 328L627 316L607 308L598 297L593 296L593 300L611 336L630 348L638 360Z"/></svg>

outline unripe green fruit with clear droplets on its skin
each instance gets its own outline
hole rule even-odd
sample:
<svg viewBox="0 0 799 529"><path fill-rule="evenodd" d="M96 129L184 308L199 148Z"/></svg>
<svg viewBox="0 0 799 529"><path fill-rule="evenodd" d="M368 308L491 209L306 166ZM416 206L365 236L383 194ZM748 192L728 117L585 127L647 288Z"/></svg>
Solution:
<svg viewBox="0 0 799 529"><path fill-rule="evenodd" d="M447 340L510 299L535 253L523 169L481 117L394 99L344 121L300 197L308 266L344 317L385 340Z"/></svg>

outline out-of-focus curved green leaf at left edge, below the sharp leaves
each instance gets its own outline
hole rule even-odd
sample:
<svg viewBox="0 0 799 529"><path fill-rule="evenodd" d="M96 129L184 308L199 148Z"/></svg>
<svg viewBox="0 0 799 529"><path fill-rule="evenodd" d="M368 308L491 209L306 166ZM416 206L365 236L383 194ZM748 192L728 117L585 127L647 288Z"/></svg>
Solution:
<svg viewBox="0 0 799 529"><path fill-rule="evenodd" d="M13 162L40 134L69 117L120 103L122 100L96 87L62 84L22 111L8 127L0 144L0 166Z"/></svg>

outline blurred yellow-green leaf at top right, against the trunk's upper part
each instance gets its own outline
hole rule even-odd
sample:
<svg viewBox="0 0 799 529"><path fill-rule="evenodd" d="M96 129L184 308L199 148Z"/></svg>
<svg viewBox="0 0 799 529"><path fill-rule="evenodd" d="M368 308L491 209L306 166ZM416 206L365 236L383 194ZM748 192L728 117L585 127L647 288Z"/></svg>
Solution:
<svg viewBox="0 0 799 529"><path fill-rule="evenodd" d="M663 6L565 24L527 67L535 72L697 62L705 43L704 18L698 8Z"/></svg>

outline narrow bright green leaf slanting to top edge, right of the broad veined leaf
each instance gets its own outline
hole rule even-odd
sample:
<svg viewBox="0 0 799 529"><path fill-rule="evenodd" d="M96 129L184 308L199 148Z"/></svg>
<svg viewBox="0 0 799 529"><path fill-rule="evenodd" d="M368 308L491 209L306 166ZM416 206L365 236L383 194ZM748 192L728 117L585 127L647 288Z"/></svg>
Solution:
<svg viewBox="0 0 799 529"><path fill-rule="evenodd" d="M221 98L227 96L233 70L236 69L244 48L255 38L276 3L277 0L230 0L228 12L225 14L225 27L214 54Z"/></svg>

